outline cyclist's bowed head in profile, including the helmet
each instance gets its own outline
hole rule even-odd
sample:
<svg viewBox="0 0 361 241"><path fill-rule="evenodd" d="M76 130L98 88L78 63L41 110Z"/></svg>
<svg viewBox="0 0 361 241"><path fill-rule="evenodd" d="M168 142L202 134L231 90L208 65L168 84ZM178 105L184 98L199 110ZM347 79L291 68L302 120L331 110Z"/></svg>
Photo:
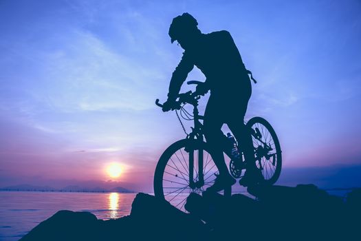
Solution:
<svg viewBox="0 0 361 241"><path fill-rule="evenodd" d="M168 32L171 42L178 41L182 48L184 48L184 46L188 45L187 42L193 39L193 36L201 33L197 25L197 20L188 12L175 17Z"/></svg>

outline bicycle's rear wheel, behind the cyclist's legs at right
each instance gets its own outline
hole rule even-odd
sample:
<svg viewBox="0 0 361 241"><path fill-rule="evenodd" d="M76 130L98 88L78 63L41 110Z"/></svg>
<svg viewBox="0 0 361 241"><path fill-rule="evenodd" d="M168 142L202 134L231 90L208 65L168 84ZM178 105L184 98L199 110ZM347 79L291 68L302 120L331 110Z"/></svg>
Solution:
<svg viewBox="0 0 361 241"><path fill-rule="evenodd" d="M256 166L261 169L266 184L273 185L282 169L281 146L273 127L261 117L251 118L246 124L252 132Z"/></svg>

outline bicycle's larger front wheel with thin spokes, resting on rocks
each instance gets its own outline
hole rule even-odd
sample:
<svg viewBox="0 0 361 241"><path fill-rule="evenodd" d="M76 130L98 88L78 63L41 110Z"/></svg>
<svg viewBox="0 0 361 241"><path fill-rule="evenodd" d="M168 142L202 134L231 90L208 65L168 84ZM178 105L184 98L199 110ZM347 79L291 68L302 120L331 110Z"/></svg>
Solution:
<svg viewBox="0 0 361 241"><path fill-rule="evenodd" d="M193 174L190 173L192 156ZM202 162L204 184L191 187L192 176L193 182L201 179L198 173ZM189 194L201 195L215 182L215 174L219 174L219 170L210 156L206 143L192 139L178 140L164 151L157 163L153 183L155 196L164 198L177 209L186 212L184 205ZM230 189L225 193L230 195Z"/></svg>

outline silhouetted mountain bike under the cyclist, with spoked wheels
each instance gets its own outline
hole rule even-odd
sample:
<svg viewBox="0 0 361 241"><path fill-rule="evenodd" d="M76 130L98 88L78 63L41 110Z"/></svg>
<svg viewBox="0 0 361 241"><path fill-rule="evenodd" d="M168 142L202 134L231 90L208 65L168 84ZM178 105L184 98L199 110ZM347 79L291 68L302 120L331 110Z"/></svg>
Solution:
<svg viewBox="0 0 361 241"><path fill-rule="evenodd" d="M188 81L190 84L199 84L199 81ZM215 174L219 174L217 166L210 156L210 149L204 141L203 125L200 122L204 116L199 115L198 100L201 96L197 92L179 94L175 102L175 111L184 112L186 119L194 121L192 131L186 138L178 140L170 145L160 156L155 168L153 180L156 197L164 198L171 205L185 211L186 198L192 192L203 193L215 181ZM159 107L159 99L155 101ZM193 105L193 116L184 110L184 105ZM184 129L182 121L177 117ZM281 147L273 127L264 118L253 117L246 127L250 129L254 145L256 167L259 168L265 178L264 185L273 185L281 174L282 156ZM184 132L185 129L184 129ZM224 134L223 134L224 135ZM234 178L242 178L246 160L239 149L238 157L232 155L232 145L224 135L222 140L223 152L230 158L229 171ZM228 142L228 143L227 143ZM223 195L230 196L232 187L225 187Z"/></svg>

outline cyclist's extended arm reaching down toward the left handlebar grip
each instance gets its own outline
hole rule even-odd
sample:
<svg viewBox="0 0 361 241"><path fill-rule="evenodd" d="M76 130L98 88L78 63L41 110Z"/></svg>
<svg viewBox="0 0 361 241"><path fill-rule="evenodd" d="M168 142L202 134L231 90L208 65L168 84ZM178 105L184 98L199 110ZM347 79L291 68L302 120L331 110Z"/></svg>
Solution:
<svg viewBox="0 0 361 241"><path fill-rule="evenodd" d="M186 81L188 73L193 70L193 67L193 61L191 61L188 54L184 52L181 61L172 74L171 83L169 84L168 100L174 101L177 98L182 84Z"/></svg>

